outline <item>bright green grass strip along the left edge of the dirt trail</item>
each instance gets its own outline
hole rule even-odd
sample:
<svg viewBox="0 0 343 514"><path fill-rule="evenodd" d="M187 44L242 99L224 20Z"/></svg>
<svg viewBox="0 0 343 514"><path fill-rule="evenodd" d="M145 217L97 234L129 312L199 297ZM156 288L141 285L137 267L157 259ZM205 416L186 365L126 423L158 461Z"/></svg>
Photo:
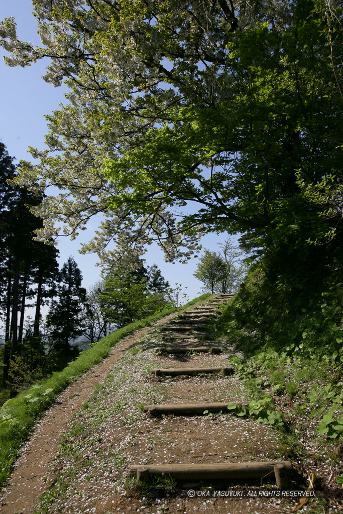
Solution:
<svg viewBox="0 0 343 514"><path fill-rule="evenodd" d="M62 371L53 373L48 379L34 384L15 398L6 401L0 409L0 487L5 484L20 447L30 434L35 421L43 415L66 387L107 357L111 348L124 337L138 329L150 326L177 310L182 310L194 303L205 300L209 296L211 295L202 295L183 307L165 308L146 319L118 329L101 339L87 351L82 352L75 361L70 362Z"/></svg>

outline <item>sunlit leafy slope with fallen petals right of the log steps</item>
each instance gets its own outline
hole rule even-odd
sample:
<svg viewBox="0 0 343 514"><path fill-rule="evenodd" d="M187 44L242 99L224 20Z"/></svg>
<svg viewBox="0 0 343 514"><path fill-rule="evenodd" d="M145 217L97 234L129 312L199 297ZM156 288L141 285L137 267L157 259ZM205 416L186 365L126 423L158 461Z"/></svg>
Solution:
<svg viewBox="0 0 343 514"><path fill-rule="evenodd" d="M237 352L236 370L252 398L270 398L285 426L281 453L298 462L305 476L316 470L316 487L343 484L343 392L341 365L301 349L278 347L257 338L235 322L237 299L231 300L212 331ZM258 325L256 326L258 328ZM329 477L331 481L328 482Z"/></svg>

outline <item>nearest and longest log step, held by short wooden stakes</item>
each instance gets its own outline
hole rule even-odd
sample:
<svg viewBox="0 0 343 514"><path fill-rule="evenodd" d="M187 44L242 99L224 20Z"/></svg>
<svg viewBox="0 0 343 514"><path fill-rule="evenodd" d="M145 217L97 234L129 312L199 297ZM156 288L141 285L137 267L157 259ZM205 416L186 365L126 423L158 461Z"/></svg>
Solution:
<svg viewBox="0 0 343 514"><path fill-rule="evenodd" d="M224 464L155 464L130 466L137 480L149 480L149 475L171 475L175 480L249 480L275 476L279 489L288 487L288 476L294 475L290 461L242 462Z"/></svg>

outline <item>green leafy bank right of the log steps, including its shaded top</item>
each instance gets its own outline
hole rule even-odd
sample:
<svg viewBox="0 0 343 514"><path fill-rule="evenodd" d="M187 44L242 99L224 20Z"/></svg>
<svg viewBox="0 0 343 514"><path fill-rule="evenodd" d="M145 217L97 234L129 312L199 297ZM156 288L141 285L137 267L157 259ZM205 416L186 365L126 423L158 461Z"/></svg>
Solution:
<svg viewBox="0 0 343 514"><path fill-rule="evenodd" d="M327 303L318 312L285 316L277 327L266 316L254 323L252 309L243 316L249 305L239 294L209 328L236 351L236 374L250 397L262 400L261 421L281 431L284 458L297 462L303 475L315 471L323 488L343 485L341 313ZM281 417L274 421L273 412Z"/></svg>

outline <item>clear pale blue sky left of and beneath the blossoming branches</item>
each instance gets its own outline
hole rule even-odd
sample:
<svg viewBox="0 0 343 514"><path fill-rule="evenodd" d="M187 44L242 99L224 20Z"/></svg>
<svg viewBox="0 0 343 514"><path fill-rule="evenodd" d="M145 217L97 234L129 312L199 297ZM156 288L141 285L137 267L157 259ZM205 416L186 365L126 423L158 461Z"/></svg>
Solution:
<svg viewBox="0 0 343 514"><path fill-rule="evenodd" d="M13 16L16 21L20 39L41 44L30 0L1 0L0 20L9 16ZM0 48L0 140L17 161L31 160L30 154L27 153L28 146L44 148L44 135L47 133L44 115L58 108L60 103L66 102L63 95L67 88L56 88L44 82L41 77L44 75L47 62L39 61L26 68L10 68L4 63L4 54L6 52ZM73 255L82 271L84 287L89 287L100 277L100 268L96 267L97 255L78 253L81 237L84 241L89 240L96 227L95 219L89 230L84 231L76 241L72 242L63 237L58 243L60 264L65 262L69 255ZM216 250L216 243L223 242L225 238L226 234L208 234L202 243L204 247ZM149 247L145 258L149 266L157 264L171 286L175 283L187 286L189 299L198 296L202 284L193 277L197 259L191 259L186 265L165 263L163 252L157 246Z"/></svg>

